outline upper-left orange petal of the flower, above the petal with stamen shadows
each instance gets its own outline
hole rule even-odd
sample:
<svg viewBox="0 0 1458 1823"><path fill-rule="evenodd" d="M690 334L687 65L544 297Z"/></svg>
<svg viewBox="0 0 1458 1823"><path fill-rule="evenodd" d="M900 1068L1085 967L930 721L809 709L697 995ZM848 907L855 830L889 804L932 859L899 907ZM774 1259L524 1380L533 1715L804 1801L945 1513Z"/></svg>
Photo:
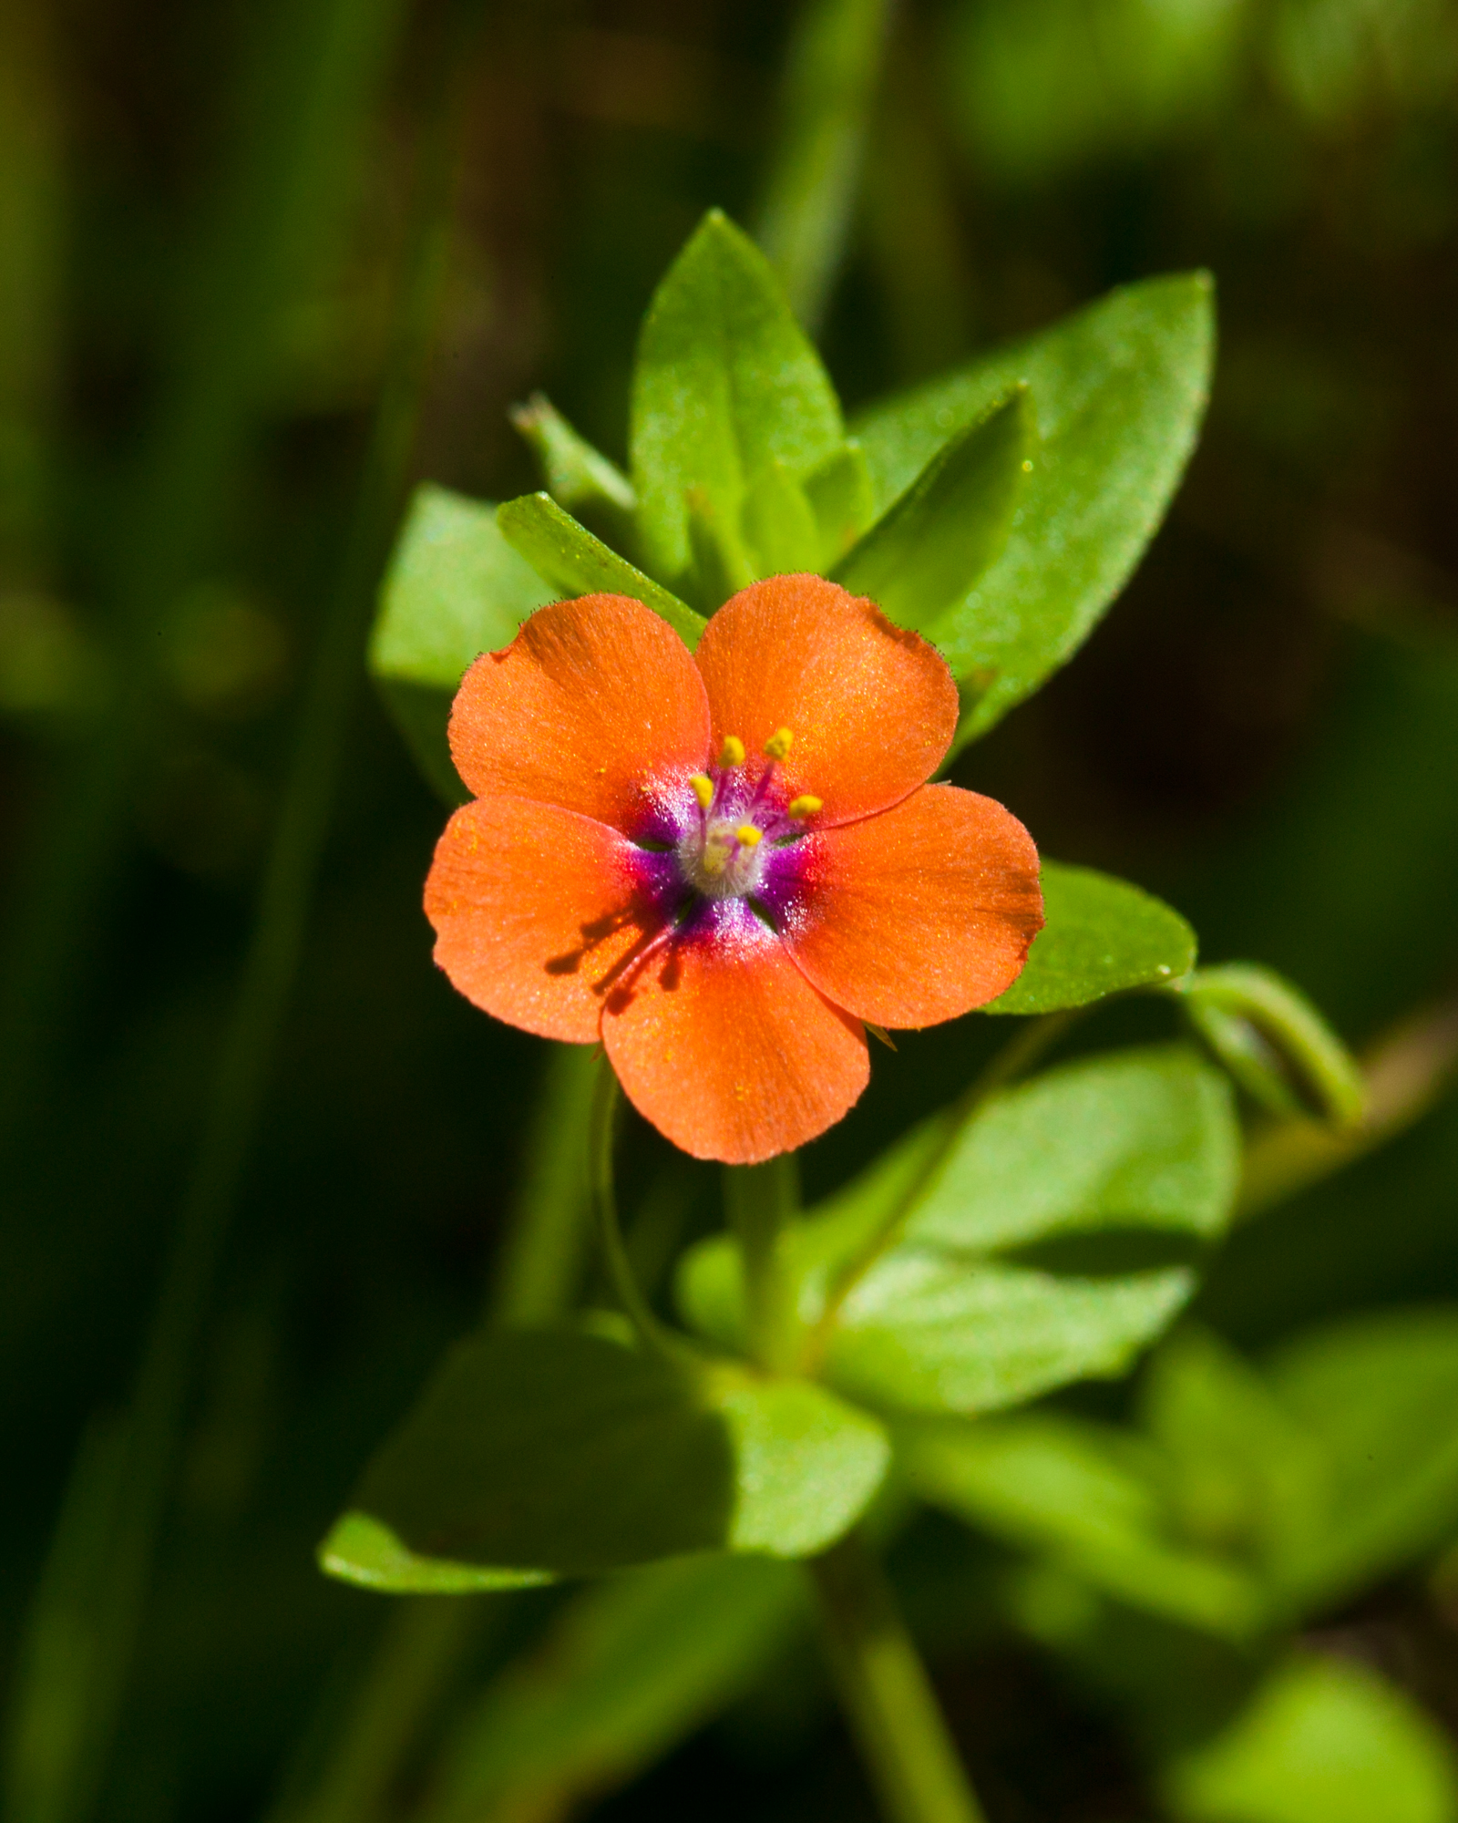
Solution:
<svg viewBox="0 0 1458 1823"><path fill-rule="evenodd" d="M640 833L709 755L687 645L625 594L541 607L467 671L450 755L474 797L523 797Z"/></svg>

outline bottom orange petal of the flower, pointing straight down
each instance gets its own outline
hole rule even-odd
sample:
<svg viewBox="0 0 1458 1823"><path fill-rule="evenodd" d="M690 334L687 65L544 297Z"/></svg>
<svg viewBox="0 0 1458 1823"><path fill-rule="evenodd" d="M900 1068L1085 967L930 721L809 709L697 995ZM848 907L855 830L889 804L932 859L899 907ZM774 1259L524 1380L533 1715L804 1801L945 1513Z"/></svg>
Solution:
<svg viewBox="0 0 1458 1823"><path fill-rule="evenodd" d="M857 1019L831 1006L742 901L609 995L603 1045L629 1101L676 1147L755 1165L815 1139L871 1074Z"/></svg>

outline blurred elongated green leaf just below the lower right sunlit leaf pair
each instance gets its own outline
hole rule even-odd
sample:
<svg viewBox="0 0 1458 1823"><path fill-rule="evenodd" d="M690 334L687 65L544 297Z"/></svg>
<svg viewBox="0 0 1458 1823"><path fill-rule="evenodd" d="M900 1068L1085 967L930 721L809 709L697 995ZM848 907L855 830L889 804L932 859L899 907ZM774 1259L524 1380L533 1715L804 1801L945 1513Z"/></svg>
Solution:
<svg viewBox="0 0 1458 1823"><path fill-rule="evenodd" d="M913 1493L1148 1613L1241 1637L1261 1591L1239 1564L1168 1537L1159 1462L1112 1426L1037 1415L913 1426Z"/></svg>

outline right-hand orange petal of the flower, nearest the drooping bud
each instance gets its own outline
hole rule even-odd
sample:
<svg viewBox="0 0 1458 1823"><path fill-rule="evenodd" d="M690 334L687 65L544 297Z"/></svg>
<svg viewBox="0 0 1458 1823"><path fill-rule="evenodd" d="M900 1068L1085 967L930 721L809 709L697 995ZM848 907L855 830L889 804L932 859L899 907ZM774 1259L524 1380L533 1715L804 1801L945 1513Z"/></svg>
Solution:
<svg viewBox="0 0 1458 1823"><path fill-rule="evenodd" d="M873 1025L939 1025L984 1006L1042 928L1033 839L957 786L922 786L880 817L811 833L784 860L785 948L822 994Z"/></svg>

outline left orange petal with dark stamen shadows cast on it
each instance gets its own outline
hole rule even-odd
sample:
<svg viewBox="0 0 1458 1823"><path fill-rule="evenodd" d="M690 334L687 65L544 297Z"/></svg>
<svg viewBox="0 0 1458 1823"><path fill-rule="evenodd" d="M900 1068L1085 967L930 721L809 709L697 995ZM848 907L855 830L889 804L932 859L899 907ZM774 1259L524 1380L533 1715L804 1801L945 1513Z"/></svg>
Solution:
<svg viewBox="0 0 1458 1823"><path fill-rule="evenodd" d="M483 1012L589 1045L614 970L665 922L665 860L552 804L477 798L447 824L425 882L436 961Z"/></svg>

